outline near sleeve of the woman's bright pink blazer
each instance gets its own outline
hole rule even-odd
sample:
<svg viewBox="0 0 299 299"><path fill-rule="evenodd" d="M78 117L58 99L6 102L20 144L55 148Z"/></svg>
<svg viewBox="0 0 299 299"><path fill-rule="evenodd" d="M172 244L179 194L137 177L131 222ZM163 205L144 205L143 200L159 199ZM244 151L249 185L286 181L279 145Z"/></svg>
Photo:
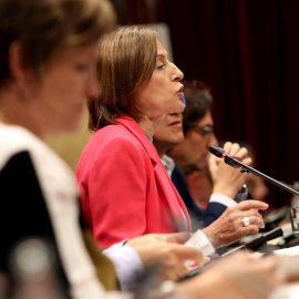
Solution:
<svg viewBox="0 0 299 299"><path fill-rule="evenodd" d="M97 152L89 198L94 236L103 247L143 235L146 229L145 159L142 148L121 138L113 138Z"/></svg>

